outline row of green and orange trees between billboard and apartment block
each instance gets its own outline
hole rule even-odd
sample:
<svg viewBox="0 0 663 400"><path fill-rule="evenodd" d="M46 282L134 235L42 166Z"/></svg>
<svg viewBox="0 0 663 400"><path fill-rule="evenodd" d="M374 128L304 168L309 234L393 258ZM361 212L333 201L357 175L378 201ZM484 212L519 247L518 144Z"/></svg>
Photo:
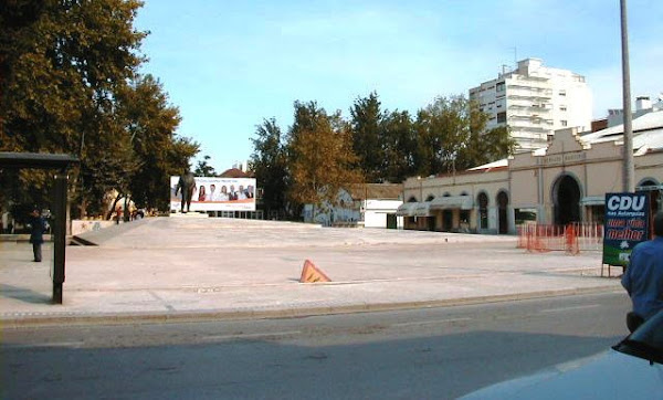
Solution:
<svg viewBox="0 0 663 400"><path fill-rule="evenodd" d="M316 102L295 102L283 138L274 119L253 139L252 166L266 210L334 203L340 188L368 179L401 182L413 175L452 173L513 154L507 128L485 130L487 115L464 96L439 97L420 109L380 109L376 93L358 98L350 119ZM297 214L294 212L294 214Z"/></svg>

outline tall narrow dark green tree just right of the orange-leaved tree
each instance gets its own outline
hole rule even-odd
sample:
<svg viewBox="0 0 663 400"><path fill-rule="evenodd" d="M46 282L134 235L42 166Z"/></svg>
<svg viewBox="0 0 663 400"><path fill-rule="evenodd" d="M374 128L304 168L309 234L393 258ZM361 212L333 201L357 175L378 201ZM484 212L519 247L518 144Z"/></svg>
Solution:
<svg viewBox="0 0 663 400"><path fill-rule="evenodd" d="M352 133L352 150L366 179L371 182L381 181L385 149L382 148L382 120L386 113L380 110L378 94L372 92L368 97L357 98L350 108Z"/></svg>

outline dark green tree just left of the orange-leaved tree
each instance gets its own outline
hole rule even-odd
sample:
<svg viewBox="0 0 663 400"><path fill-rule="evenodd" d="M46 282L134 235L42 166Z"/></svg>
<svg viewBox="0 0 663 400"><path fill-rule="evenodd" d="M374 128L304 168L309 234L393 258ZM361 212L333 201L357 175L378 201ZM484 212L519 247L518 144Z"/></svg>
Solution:
<svg viewBox="0 0 663 400"><path fill-rule="evenodd" d="M253 141L251 168L256 185L262 189L262 201L267 215L285 211L288 190L286 147L276 119L264 119L256 126Z"/></svg>

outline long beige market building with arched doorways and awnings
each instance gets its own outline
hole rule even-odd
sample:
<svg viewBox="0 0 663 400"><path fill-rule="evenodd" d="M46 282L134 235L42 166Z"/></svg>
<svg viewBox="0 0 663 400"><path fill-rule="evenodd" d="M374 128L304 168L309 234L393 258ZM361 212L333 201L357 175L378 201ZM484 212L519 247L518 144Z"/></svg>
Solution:
<svg viewBox="0 0 663 400"><path fill-rule="evenodd" d="M397 214L404 229L514 234L525 221L601 223L607 192L621 192L623 125L556 130L545 148L452 175L412 177ZM663 192L663 109L633 119L636 190Z"/></svg>

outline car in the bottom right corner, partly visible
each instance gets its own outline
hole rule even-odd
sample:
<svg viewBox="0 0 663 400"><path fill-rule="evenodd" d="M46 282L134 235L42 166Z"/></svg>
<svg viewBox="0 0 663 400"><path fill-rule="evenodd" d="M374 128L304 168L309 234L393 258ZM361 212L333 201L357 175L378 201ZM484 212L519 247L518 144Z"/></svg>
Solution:
<svg viewBox="0 0 663 400"><path fill-rule="evenodd" d="M461 399L663 399L663 310L606 352Z"/></svg>

